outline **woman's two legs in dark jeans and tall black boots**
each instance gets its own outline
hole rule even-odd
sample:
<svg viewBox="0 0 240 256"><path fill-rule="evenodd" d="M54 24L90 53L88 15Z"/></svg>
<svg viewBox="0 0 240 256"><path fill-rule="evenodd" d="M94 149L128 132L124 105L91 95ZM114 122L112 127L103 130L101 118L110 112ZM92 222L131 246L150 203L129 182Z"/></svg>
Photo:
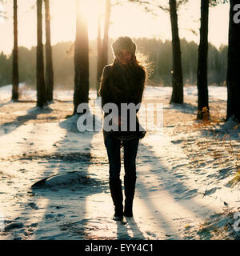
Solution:
<svg viewBox="0 0 240 256"><path fill-rule="evenodd" d="M121 170L121 142L113 138L111 135L106 137L105 146L109 159L109 182L110 193L113 198L115 206L115 214L122 214L122 181L120 179ZM138 152L139 138L123 141L123 154L124 154L124 192L125 202L132 205L134 200L134 190L136 182L136 157Z"/></svg>

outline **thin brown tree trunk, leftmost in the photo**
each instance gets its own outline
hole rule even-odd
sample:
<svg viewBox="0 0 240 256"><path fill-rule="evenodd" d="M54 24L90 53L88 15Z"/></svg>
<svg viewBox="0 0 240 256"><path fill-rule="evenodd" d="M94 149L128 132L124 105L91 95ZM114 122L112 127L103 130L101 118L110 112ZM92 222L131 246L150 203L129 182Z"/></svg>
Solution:
<svg viewBox="0 0 240 256"><path fill-rule="evenodd" d="M18 1L14 0L14 50L13 50L13 74L12 74L12 100L18 101Z"/></svg>

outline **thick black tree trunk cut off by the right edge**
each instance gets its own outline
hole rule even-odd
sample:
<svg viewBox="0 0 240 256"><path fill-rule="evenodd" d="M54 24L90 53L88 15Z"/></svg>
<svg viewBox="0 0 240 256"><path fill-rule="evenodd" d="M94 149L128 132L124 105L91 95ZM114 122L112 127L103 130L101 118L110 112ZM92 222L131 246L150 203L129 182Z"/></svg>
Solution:
<svg viewBox="0 0 240 256"><path fill-rule="evenodd" d="M229 46L227 63L227 112L226 119L235 118L240 122L240 78L239 78L239 59L240 59L240 23L237 22L237 10L234 6L239 4L239 0L230 0L230 22L229 22ZM238 10L239 11L239 10ZM238 18L239 19L239 15ZM235 21L234 21L235 20Z"/></svg>

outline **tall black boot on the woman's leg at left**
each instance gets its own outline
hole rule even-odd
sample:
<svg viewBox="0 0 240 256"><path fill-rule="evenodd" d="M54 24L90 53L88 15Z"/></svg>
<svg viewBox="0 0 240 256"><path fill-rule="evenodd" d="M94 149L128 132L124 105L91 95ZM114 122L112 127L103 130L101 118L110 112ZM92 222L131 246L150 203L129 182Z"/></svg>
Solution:
<svg viewBox="0 0 240 256"><path fill-rule="evenodd" d="M122 206L122 181L118 179L110 179L110 193L115 206L114 220L122 221L123 218L123 206Z"/></svg>

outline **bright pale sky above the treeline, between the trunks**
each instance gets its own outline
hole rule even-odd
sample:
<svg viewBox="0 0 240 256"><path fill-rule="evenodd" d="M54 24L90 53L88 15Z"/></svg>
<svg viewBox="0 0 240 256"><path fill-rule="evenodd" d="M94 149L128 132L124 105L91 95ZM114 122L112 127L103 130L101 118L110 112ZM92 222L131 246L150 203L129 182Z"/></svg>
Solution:
<svg viewBox="0 0 240 256"><path fill-rule="evenodd" d="M88 21L89 38L94 39L97 36L98 11L102 15L103 30L105 0L99 0L99 7L98 0L83 1L84 13ZM29 49L31 46L36 46L37 42L35 2L36 0L18 0L18 45L26 46ZM50 2L52 44L74 41L75 0L50 0ZM161 2L167 4L167 0L161 0ZM178 10L180 38L199 42L200 2L200 0L190 0L190 3ZM10 54L13 48L12 1L5 6L0 4L0 10L3 8L8 18L0 18L0 52ZM155 10L154 13L155 15L146 13L142 6L132 3L112 7L110 38L128 35L134 38L159 38L162 41L171 39L170 15L162 10ZM210 8L209 41L214 46L219 47L228 43L228 23L229 4Z"/></svg>

